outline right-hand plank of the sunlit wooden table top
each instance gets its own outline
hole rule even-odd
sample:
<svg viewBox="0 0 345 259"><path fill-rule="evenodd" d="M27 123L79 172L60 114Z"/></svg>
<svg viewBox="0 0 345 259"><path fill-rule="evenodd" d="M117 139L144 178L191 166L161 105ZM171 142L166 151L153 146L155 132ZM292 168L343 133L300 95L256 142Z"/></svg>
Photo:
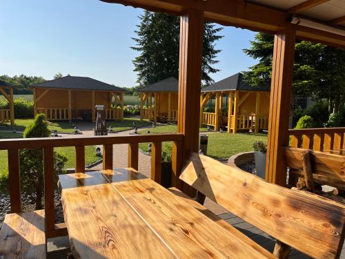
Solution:
<svg viewBox="0 0 345 259"><path fill-rule="evenodd" d="M112 185L138 211L178 258L275 258L234 227L226 231L199 209L190 206L150 179L116 182ZM116 173L115 173L116 174Z"/></svg>

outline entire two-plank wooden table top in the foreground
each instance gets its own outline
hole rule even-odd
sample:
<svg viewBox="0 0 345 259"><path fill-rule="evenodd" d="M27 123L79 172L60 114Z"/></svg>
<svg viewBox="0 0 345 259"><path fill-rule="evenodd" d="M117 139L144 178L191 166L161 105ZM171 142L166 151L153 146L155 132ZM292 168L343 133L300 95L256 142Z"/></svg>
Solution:
<svg viewBox="0 0 345 259"><path fill-rule="evenodd" d="M136 171L59 180L75 258L273 258Z"/></svg>

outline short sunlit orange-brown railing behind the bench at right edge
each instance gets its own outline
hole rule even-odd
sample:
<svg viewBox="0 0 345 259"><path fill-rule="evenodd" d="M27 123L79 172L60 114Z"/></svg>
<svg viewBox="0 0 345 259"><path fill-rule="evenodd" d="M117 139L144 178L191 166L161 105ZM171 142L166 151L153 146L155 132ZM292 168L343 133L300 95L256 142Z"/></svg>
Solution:
<svg viewBox="0 0 345 259"><path fill-rule="evenodd" d="M294 148L312 149L343 153L345 148L345 128L305 128L290 129L290 146Z"/></svg>

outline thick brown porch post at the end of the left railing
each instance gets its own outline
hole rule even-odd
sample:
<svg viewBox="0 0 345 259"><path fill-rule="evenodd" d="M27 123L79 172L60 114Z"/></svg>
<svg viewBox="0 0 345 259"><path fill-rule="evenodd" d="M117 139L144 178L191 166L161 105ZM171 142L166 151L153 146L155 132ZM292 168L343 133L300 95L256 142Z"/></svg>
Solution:
<svg viewBox="0 0 345 259"><path fill-rule="evenodd" d="M179 37L179 101L177 132L184 134L182 160L188 153L199 151L199 113L201 93L201 57L204 32L204 13L199 10L186 10L181 16ZM172 166L174 167L174 166ZM179 169L179 166L177 166ZM175 172L179 177L179 171ZM189 186L181 187L184 193L193 197L195 191Z"/></svg>

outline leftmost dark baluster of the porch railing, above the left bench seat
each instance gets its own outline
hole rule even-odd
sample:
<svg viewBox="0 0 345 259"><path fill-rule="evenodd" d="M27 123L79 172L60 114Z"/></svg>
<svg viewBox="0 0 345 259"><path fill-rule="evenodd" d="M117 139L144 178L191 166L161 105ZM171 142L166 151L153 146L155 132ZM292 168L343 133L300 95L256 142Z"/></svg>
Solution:
<svg viewBox="0 0 345 259"><path fill-rule="evenodd" d="M8 175L10 180L11 212L21 212L21 182L20 182L19 150L8 149Z"/></svg>

